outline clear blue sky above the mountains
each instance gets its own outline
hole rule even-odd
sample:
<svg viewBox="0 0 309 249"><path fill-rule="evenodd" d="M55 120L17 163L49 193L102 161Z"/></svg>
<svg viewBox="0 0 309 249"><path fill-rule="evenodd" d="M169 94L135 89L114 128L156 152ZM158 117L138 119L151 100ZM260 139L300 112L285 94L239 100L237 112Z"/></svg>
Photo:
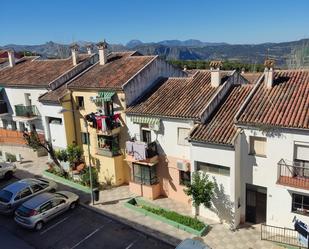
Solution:
<svg viewBox="0 0 309 249"><path fill-rule="evenodd" d="M309 38L308 0L1 0L0 45Z"/></svg>

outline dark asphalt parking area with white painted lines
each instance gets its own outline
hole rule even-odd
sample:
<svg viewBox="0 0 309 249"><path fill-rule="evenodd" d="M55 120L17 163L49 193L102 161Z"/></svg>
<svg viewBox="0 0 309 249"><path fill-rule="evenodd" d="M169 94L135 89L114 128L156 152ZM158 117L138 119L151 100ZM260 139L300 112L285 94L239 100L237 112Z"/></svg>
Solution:
<svg viewBox="0 0 309 249"><path fill-rule="evenodd" d="M0 188L6 184L7 182L0 180ZM3 247L4 245L6 246ZM82 206L56 217L38 232L18 226L12 217L0 216L0 248L31 247L35 249L174 248Z"/></svg>

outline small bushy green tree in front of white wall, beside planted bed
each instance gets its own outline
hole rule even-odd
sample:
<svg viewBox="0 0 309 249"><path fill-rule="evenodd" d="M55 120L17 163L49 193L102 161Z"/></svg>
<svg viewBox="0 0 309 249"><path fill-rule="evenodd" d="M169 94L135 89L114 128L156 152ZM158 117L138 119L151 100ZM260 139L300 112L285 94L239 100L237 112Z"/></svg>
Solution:
<svg viewBox="0 0 309 249"><path fill-rule="evenodd" d="M214 184L208 179L208 175L202 172L193 172L191 183L186 185L184 192L191 196L195 207L195 217L199 214L199 207L211 207L211 198L214 194Z"/></svg>

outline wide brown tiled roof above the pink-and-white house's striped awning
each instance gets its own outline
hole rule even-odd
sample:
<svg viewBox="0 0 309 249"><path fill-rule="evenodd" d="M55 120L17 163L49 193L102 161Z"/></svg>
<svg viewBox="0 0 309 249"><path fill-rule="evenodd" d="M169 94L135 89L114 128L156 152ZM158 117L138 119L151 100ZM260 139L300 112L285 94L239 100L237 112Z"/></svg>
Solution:
<svg viewBox="0 0 309 249"><path fill-rule="evenodd" d="M226 80L227 72L222 81ZM199 119L217 88L210 84L210 71L198 71L190 78L162 80L126 112L149 116Z"/></svg>

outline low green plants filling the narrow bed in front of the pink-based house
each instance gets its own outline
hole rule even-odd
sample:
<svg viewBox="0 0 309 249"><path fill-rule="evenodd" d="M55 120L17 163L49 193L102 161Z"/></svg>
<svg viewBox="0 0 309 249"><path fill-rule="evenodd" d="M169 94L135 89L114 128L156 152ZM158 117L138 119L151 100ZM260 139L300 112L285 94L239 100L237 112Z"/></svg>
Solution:
<svg viewBox="0 0 309 249"><path fill-rule="evenodd" d="M180 223L182 225L191 227L195 230L202 230L205 227L205 224L201 221L199 221L196 218L192 218L190 216L181 215L179 213L176 213L174 211L168 211L162 208L154 208L147 205L141 205L141 208L145 209L148 212L154 213L156 215L162 216L168 220L175 221L177 223Z"/></svg>

